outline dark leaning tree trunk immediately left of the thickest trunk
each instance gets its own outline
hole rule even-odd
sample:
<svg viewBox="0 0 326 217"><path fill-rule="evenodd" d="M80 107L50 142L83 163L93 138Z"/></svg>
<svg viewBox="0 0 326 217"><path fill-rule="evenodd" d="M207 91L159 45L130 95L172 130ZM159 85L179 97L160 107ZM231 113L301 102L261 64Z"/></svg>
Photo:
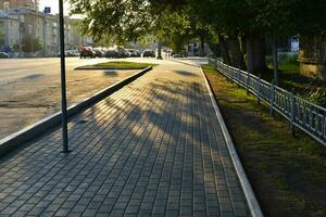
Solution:
<svg viewBox="0 0 326 217"><path fill-rule="evenodd" d="M229 37L229 56L234 67L246 69L243 53L241 51L238 35L233 35Z"/></svg>

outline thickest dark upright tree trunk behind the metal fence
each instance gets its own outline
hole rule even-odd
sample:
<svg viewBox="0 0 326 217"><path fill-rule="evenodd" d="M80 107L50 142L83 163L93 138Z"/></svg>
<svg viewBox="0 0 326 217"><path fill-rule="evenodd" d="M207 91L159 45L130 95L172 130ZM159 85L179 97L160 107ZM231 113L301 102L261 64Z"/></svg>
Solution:
<svg viewBox="0 0 326 217"><path fill-rule="evenodd" d="M247 36L247 67L249 73L255 74L266 68L265 38L259 35Z"/></svg>

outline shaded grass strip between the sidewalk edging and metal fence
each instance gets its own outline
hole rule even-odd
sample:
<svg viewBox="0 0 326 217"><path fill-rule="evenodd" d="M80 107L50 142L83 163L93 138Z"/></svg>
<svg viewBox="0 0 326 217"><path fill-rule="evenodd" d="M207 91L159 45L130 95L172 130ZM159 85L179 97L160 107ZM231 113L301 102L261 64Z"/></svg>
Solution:
<svg viewBox="0 0 326 217"><path fill-rule="evenodd" d="M243 167L266 216L326 216L326 148L203 66Z"/></svg>

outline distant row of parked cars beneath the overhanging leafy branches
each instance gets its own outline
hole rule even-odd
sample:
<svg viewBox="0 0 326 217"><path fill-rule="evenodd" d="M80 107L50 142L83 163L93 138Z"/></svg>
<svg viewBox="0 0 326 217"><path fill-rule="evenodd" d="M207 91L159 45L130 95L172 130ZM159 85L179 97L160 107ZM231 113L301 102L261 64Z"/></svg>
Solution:
<svg viewBox="0 0 326 217"><path fill-rule="evenodd" d="M136 49L125 49L123 47L117 48L91 48L84 47L79 49L79 56L85 58L108 58L108 59L123 59L123 58L140 58L141 52ZM143 58L155 58L153 50L145 50Z"/></svg>

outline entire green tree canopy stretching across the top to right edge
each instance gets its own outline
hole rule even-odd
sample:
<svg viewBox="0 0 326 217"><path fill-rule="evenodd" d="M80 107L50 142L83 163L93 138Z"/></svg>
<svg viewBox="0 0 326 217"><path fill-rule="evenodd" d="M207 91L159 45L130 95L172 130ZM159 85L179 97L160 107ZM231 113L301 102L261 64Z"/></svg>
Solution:
<svg viewBox="0 0 326 217"><path fill-rule="evenodd" d="M123 43L153 35L176 48L189 38L212 40L216 34L271 38L321 34L326 29L324 1L70 0L72 13L85 17L84 33L96 40Z"/></svg>

